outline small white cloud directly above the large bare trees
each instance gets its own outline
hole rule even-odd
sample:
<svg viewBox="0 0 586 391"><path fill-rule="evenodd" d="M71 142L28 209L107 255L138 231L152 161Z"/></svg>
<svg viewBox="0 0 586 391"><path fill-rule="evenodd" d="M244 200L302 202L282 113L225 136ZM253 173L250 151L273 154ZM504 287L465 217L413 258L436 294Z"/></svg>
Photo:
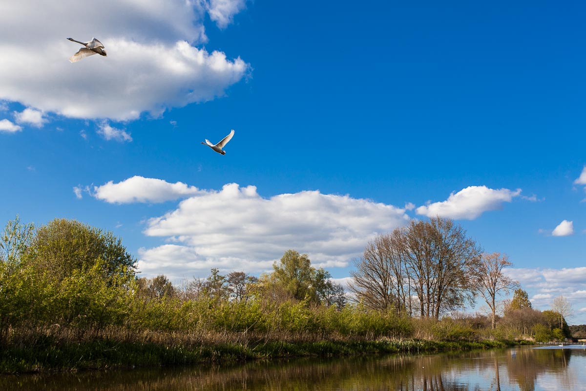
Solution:
<svg viewBox="0 0 586 391"><path fill-rule="evenodd" d="M452 219L473 220L488 210L502 208L503 202L511 202L519 196L521 189L489 189L486 186L468 186L461 191L452 192L442 202L428 203L415 209L418 215L428 217L442 216Z"/></svg>

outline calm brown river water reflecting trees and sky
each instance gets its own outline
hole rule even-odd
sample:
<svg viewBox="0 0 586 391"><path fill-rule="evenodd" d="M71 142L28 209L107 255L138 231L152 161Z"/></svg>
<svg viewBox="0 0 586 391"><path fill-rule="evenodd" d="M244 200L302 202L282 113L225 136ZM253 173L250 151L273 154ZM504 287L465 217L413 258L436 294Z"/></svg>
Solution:
<svg viewBox="0 0 586 391"><path fill-rule="evenodd" d="M0 390L586 390L586 348L1 376Z"/></svg>

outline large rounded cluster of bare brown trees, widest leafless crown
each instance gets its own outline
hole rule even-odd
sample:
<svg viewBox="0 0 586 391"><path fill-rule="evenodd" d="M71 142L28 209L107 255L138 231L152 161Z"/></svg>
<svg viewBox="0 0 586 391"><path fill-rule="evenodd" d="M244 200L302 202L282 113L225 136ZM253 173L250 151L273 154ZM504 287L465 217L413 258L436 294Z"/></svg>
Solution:
<svg viewBox="0 0 586 391"><path fill-rule="evenodd" d="M398 313L416 308L421 317L473 302L481 250L461 226L441 217L414 221L369 242L355 261L349 288L371 308ZM413 295L417 299L412 299Z"/></svg>

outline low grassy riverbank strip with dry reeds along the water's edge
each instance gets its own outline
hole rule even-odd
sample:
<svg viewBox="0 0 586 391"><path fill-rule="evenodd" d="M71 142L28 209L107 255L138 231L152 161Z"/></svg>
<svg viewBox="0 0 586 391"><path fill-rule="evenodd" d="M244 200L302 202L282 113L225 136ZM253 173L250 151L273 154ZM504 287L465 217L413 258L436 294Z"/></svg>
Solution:
<svg viewBox="0 0 586 391"><path fill-rule="evenodd" d="M385 353L434 353L503 348L517 341L428 341L418 339L253 339L227 338L222 342L186 336L127 339L86 338L74 341L36 337L3 346L1 373L66 372L85 369L175 366L194 363L229 363L256 359L331 357ZM32 343L30 343L32 342Z"/></svg>

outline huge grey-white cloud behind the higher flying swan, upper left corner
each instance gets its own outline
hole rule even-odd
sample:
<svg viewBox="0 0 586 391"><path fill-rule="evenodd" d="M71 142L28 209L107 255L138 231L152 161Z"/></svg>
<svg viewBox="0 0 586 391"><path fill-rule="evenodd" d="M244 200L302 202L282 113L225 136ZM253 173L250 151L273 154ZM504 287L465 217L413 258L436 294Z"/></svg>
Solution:
<svg viewBox="0 0 586 391"><path fill-rule="evenodd" d="M0 99L66 117L131 120L223 96L250 67L191 45L207 40L206 12L224 26L242 8L241 0L2 2ZM70 64L81 46L66 38L92 36L108 56Z"/></svg>

